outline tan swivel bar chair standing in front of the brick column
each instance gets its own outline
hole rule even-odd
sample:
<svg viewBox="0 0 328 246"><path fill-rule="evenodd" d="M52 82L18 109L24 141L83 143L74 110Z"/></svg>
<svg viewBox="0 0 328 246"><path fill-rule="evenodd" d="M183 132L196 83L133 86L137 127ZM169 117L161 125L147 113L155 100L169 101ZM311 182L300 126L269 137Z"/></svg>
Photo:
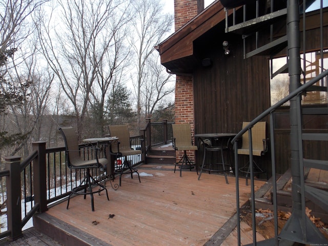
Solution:
<svg viewBox="0 0 328 246"><path fill-rule="evenodd" d="M180 177L181 177L183 165L185 165L185 167L189 165L190 171L192 168L196 167L196 172L198 175L197 165L195 165L195 163L191 161L187 155L187 150L198 150L197 146L193 145L193 141L191 138L190 124L189 123L173 124L172 130L173 130L173 141L172 141L173 149L178 151L183 151L182 158L175 163L174 173L176 170L176 166L178 166L180 168Z"/></svg>

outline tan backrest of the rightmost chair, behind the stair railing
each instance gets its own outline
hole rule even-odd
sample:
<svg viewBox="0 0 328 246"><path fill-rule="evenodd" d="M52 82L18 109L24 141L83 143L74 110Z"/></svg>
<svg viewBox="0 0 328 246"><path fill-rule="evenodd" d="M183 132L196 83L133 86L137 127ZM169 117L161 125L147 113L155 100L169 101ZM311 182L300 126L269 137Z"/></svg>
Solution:
<svg viewBox="0 0 328 246"><path fill-rule="evenodd" d="M250 122L243 122L242 128L247 127L247 125L250 124ZM257 122L253 128L252 128L252 144L253 144L253 155L261 155L265 151L265 147L263 149L263 140L264 144L266 134L265 134L265 121ZM241 149L249 150L250 144L249 144L249 132L245 132L242 135L242 147Z"/></svg>

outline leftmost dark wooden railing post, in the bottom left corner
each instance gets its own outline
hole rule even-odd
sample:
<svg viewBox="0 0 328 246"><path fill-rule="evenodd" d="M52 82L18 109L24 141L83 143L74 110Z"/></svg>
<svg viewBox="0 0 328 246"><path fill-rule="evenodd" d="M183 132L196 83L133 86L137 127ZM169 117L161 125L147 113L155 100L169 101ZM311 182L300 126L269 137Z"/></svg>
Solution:
<svg viewBox="0 0 328 246"><path fill-rule="evenodd" d="M7 177L7 223L9 240L23 237L22 234L22 203L21 203L21 180L20 180L20 156L9 156L5 158L6 169L10 174Z"/></svg>

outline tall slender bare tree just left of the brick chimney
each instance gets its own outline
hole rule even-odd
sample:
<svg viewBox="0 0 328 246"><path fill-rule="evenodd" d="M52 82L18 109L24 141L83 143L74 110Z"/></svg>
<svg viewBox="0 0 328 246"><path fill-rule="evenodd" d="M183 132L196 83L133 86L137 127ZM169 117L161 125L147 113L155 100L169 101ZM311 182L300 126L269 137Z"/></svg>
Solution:
<svg viewBox="0 0 328 246"><path fill-rule="evenodd" d="M137 125L140 127L141 117L141 90L146 83L146 61L163 37L171 31L173 16L163 14L161 0L136 0L134 5L135 16L132 21L133 32L130 42L135 54L136 75L132 75L137 99ZM147 71L146 71L147 70Z"/></svg>

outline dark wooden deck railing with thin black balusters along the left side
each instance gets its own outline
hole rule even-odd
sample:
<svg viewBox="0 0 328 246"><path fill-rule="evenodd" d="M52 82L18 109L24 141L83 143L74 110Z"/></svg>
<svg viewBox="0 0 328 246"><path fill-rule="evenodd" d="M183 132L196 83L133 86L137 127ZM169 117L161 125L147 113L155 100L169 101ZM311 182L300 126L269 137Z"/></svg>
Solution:
<svg viewBox="0 0 328 246"><path fill-rule="evenodd" d="M143 137L131 137L132 147L144 149ZM0 201L7 207L7 216L2 215L1 219L5 229L2 228L0 240L7 237L12 241L22 237L22 229L35 212L45 212L57 202L66 200L70 191L84 178L83 171L67 167L65 147L47 149L46 142L41 141L33 142L32 146L33 152L24 160L20 156L5 158L5 170L0 171L0 179L6 180L2 182L5 189L2 194L5 195ZM105 157L106 146L99 148L103 150L100 157ZM86 159L93 157L92 146L80 145L80 149L84 150ZM111 156L107 158L111 159ZM129 158L133 165L145 161L144 153ZM92 170L92 175L99 176L98 170Z"/></svg>

